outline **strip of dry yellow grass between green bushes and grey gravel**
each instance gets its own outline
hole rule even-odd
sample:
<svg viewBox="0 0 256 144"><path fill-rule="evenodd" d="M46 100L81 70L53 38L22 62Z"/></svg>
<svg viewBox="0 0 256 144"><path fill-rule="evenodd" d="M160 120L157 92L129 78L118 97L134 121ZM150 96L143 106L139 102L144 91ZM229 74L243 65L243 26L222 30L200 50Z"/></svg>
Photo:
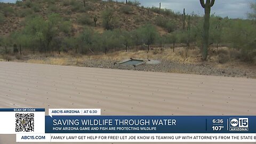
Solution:
<svg viewBox="0 0 256 144"><path fill-rule="evenodd" d="M219 52L215 51L215 49L211 49L209 54L208 62L213 62L215 65L219 63L218 57L221 53L230 53L229 49L226 47L220 48ZM149 52L147 50L135 51L135 49L128 49L127 52L124 50L117 52L108 52L107 55L105 53L100 53L98 55L82 55L76 54L74 52L61 52L60 55L57 52L39 54L36 55L27 54L22 57L15 57L13 55L12 61L23 61L29 63L44 63L49 65L79 65L87 60L107 60L107 61L122 61L124 59L152 59L152 60L160 60L160 61L175 61L182 63L198 63L201 62L200 59L200 51L199 49L195 49L191 47L190 50L187 51L188 57L186 57L186 49L185 47L176 47L175 52L173 52L170 48L157 48L155 47L153 50ZM9 55L10 56L10 55ZM6 61L5 57L2 57L2 61ZM230 60L227 64L233 63L234 60ZM226 65L225 65L226 66Z"/></svg>

